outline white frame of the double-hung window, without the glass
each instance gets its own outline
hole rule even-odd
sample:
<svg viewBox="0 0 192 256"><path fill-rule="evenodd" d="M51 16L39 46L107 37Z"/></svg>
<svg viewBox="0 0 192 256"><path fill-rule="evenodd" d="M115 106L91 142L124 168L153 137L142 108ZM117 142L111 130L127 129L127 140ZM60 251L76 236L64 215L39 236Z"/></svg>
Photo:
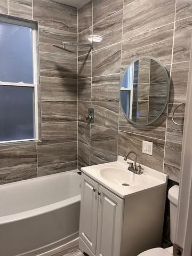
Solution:
<svg viewBox="0 0 192 256"><path fill-rule="evenodd" d="M39 76L39 45L38 45L38 22L32 20L20 19L17 17L12 17L10 15L4 15L4 17L0 17L0 22L9 23L12 25L19 25L23 27L28 27L32 29L32 43L33 43L33 78L34 83L10 83L10 82L0 82L1 85L6 86L21 86L21 87L33 87L34 88L34 115L35 115L35 138L32 139L22 139L22 140L8 140L8 141L0 141L2 143L10 143L10 142L23 142L23 141L41 141L41 109L38 108L40 104L40 94L39 94L39 84L40 84L40 76ZM1 78L0 78L1 79Z"/></svg>

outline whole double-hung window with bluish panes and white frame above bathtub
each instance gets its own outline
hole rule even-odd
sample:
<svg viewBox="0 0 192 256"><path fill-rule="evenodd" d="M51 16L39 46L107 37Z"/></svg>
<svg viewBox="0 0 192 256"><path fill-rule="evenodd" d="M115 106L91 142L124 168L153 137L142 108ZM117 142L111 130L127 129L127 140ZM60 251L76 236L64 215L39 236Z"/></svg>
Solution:
<svg viewBox="0 0 192 256"><path fill-rule="evenodd" d="M37 24L0 19L0 143L38 140Z"/></svg>

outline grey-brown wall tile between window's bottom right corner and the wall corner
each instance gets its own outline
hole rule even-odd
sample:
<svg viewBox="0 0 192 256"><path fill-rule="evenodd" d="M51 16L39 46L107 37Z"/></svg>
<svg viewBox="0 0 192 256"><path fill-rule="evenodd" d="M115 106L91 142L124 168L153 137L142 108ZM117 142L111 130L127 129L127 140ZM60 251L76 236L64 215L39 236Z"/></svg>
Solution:
<svg viewBox="0 0 192 256"><path fill-rule="evenodd" d="M43 144L77 141L77 122L43 123Z"/></svg>

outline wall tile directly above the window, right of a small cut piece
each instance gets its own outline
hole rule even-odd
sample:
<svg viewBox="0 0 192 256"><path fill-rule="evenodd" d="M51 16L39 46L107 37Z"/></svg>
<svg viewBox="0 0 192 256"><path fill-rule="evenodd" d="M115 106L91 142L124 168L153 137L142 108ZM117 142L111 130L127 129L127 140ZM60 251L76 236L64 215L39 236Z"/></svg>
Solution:
<svg viewBox="0 0 192 256"><path fill-rule="evenodd" d="M23 19L32 19L32 1L33 0L8 0L9 15L17 16Z"/></svg>

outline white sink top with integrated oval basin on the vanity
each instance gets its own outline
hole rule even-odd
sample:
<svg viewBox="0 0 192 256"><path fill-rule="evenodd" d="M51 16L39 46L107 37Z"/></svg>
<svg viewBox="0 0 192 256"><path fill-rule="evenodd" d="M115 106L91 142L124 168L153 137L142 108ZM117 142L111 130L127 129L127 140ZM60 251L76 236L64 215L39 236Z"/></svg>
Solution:
<svg viewBox="0 0 192 256"><path fill-rule="evenodd" d="M127 159L127 162L133 162ZM125 198L142 190L164 186L167 175L141 165L142 174L135 174L127 170L129 164L122 156L116 162L82 167L82 172L97 180L101 185L113 191L116 195Z"/></svg>

